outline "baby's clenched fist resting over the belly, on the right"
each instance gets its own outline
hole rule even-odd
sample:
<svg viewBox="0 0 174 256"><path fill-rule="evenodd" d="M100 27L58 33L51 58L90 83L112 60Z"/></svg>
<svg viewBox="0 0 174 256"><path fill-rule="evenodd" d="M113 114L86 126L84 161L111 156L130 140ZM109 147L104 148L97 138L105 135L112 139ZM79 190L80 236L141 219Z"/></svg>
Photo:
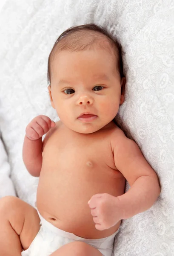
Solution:
<svg viewBox="0 0 174 256"><path fill-rule="evenodd" d="M119 204L120 201L117 197L107 193L96 194L91 197L88 205L97 230L113 227L122 219Z"/></svg>

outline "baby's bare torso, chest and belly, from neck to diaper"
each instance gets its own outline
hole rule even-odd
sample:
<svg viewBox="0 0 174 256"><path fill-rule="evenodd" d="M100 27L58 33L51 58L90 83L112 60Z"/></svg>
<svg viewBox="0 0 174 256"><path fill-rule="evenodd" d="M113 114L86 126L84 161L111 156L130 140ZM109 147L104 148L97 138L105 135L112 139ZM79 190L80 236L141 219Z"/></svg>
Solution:
<svg viewBox="0 0 174 256"><path fill-rule="evenodd" d="M111 148L117 129L114 122L91 134L74 132L62 122L52 128L43 149L37 209L54 226L87 239L110 236L120 226L119 221L97 230L87 204L98 193L114 197L124 193L125 178L115 167Z"/></svg>

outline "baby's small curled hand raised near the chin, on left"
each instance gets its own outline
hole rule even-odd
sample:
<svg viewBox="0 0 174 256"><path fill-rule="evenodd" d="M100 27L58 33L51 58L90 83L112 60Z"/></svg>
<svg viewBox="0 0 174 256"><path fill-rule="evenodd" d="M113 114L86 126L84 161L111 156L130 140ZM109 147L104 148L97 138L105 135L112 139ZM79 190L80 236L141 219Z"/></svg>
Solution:
<svg viewBox="0 0 174 256"><path fill-rule="evenodd" d="M38 140L55 125L48 116L36 116L26 127L26 137L30 140Z"/></svg>

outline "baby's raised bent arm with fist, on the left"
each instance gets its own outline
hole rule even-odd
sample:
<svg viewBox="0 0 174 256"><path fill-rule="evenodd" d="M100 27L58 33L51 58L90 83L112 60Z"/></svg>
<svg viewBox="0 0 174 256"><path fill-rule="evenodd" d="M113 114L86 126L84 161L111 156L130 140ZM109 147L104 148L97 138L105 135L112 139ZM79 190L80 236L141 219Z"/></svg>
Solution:
<svg viewBox="0 0 174 256"><path fill-rule="evenodd" d="M37 116L26 127L26 136L23 143L23 161L26 169L34 177L40 176L42 167L42 136L46 134L55 123L48 116Z"/></svg>

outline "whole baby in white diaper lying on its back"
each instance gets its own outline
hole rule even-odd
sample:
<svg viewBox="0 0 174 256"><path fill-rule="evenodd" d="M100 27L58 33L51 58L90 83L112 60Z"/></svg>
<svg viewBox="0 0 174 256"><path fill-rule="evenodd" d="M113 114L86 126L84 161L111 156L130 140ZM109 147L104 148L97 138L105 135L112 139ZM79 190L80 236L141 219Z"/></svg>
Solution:
<svg viewBox="0 0 174 256"><path fill-rule="evenodd" d="M60 121L35 117L23 144L27 170L40 177L37 210L0 200L1 255L111 256L121 220L160 194L156 173L113 121L124 102L119 44L94 24L66 30L49 55L48 82Z"/></svg>

